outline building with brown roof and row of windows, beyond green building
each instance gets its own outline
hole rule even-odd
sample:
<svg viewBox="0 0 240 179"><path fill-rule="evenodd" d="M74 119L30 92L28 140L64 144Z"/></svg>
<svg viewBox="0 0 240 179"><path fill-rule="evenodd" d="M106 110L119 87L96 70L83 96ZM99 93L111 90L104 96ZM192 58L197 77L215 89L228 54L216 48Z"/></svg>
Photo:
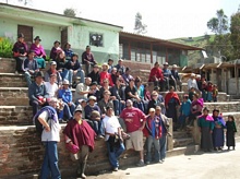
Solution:
<svg viewBox="0 0 240 179"><path fill-rule="evenodd" d="M167 61L169 64L179 67L188 65L189 50L203 50L197 47L127 32L120 32L119 43L119 56L122 59L146 63L158 61L160 64Z"/></svg>

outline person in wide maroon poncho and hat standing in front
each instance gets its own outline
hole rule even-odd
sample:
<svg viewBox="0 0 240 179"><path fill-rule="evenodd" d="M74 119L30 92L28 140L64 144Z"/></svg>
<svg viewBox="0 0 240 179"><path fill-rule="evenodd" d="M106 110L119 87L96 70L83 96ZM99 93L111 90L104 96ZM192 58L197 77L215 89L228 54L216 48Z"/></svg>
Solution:
<svg viewBox="0 0 240 179"><path fill-rule="evenodd" d="M86 178L85 168L89 152L94 150L94 139L96 133L89 124L82 119L82 107L79 106L74 112L74 120L68 122L63 133L65 135L65 143L69 145L79 146L80 151L76 154L71 154L74 160L79 160L77 177Z"/></svg>

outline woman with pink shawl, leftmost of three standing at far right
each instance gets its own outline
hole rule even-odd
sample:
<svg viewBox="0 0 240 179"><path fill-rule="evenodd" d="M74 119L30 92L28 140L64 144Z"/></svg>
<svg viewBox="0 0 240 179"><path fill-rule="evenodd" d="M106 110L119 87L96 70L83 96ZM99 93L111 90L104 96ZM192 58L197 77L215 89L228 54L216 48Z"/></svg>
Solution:
<svg viewBox="0 0 240 179"><path fill-rule="evenodd" d="M201 132L201 147L204 152L212 152L214 130L214 119L208 115L209 110L205 107L203 115L199 117L197 126Z"/></svg>

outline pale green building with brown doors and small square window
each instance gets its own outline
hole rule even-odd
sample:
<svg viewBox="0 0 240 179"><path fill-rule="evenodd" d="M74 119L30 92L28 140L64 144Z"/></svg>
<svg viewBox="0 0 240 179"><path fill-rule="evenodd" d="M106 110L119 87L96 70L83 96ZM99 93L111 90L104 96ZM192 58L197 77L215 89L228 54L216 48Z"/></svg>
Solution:
<svg viewBox="0 0 240 179"><path fill-rule="evenodd" d="M80 55L91 45L98 62L119 57L119 32L121 26L81 17L0 3L0 37L16 40L23 33L28 46L35 36L40 36L41 45L49 55L55 40L64 46L69 41Z"/></svg>

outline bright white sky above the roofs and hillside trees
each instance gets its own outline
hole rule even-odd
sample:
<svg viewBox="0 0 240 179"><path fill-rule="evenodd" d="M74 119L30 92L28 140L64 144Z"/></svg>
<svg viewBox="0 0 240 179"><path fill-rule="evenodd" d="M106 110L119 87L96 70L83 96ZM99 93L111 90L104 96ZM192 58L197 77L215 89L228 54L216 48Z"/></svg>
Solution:
<svg viewBox="0 0 240 179"><path fill-rule="evenodd" d="M10 3L11 1L17 0L9 0ZM80 17L119 25L123 27L124 32L130 33L134 32L135 14L140 12L143 23L147 25L147 33L144 35L163 39L213 34L207 29L206 23L216 16L216 11L223 9L230 20L240 4L240 0L31 1L31 8L61 14L65 8L73 8Z"/></svg>

